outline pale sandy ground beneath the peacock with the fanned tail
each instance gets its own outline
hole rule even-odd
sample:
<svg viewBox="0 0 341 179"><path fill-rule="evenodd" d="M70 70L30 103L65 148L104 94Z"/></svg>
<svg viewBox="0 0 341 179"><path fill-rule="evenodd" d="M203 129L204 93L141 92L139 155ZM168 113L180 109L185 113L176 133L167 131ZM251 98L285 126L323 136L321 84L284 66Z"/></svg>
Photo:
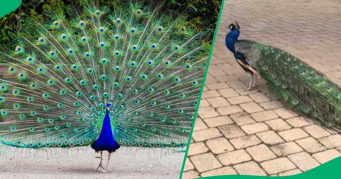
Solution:
<svg viewBox="0 0 341 179"><path fill-rule="evenodd" d="M90 147L75 150L6 149L0 156L0 178L179 178L183 153L164 149L120 148L112 154L109 170L96 171L100 154ZM1 148L0 148L1 149ZM52 154L51 154L52 153ZM103 153L103 164L107 163Z"/></svg>

